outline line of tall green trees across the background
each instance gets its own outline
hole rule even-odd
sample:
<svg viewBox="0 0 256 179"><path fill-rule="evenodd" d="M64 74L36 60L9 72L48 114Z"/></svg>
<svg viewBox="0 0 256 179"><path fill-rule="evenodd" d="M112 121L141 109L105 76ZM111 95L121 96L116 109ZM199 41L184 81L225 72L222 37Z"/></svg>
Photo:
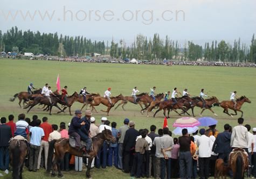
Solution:
<svg viewBox="0 0 256 179"><path fill-rule="evenodd" d="M104 41L92 41L82 36L70 37L58 33L40 33L30 30L22 32L12 27L5 33L0 31L0 51L32 52L34 54L48 54L58 56L86 56L91 53L107 54L112 58L137 60L190 60L204 61L254 62L256 63L256 39L254 34L251 45L247 46L238 40L233 44L225 40L211 43L206 42L204 47L194 44L193 41L180 44L177 40L168 37L161 39L155 33L153 38L138 34L132 44L127 45L124 39L115 42L110 47ZM17 53L18 53L17 52Z"/></svg>

